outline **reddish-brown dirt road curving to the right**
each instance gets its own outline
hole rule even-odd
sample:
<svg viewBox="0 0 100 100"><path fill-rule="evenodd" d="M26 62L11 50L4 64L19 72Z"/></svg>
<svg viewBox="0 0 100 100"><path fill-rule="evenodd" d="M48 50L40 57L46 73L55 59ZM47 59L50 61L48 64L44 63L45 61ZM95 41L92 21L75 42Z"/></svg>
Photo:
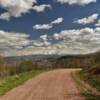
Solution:
<svg viewBox="0 0 100 100"><path fill-rule="evenodd" d="M0 100L84 100L71 75L75 71L46 72L12 89Z"/></svg>

